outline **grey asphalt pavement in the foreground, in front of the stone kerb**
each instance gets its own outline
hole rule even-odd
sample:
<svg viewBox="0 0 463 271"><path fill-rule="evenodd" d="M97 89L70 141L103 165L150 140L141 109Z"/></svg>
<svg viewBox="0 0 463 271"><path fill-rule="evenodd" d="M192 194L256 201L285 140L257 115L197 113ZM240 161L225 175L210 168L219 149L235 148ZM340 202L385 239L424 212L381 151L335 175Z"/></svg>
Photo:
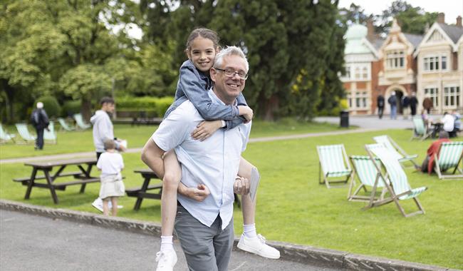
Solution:
<svg viewBox="0 0 463 271"><path fill-rule="evenodd" d="M0 210L1 270L155 270L160 239L66 220ZM180 245L174 270L187 270ZM334 271L234 251L229 271Z"/></svg>

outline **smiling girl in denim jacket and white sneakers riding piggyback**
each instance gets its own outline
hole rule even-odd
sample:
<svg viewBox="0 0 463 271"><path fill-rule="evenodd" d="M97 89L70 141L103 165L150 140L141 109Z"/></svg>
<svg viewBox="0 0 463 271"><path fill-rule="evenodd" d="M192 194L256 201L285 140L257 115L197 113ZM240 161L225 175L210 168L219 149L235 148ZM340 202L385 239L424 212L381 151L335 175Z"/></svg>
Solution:
<svg viewBox="0 0 463 271"><path fill-rule="evenodd" d="M251 121L253 111L247 106L244 96L240 93L236 98L236 106L225 106L212 103L207 94L212 87L209 77L209 69L214 65L216 53L219 51L219 37L217 33L209 29L194 29L187 39L185 49L188 60L180 67L180 78L177 83L175 102L172 103L165 116L169 115L184 101L191 101L197 108L201 116L206 120L199 123L197 129L192 131L192 138L196 140L206 140L219 128L231 129L244 121ZM224 71L225 72L225 71ZM247 75L241 76L241 80L246 80ZM214 120L214 121L213 121ZM239 165L238 178L251 179L251 165L244 158L241 158ZM162 178L162 236L161 250L157 253L157 270L172 270L177 262L177 255L173 249L172 232L174 230L175 215L177 213L177 189L184 187L180 183L182 169L177 160L174 150L165 153L164 156L165 174ZM197 188L189 188L192 193L190 198L204 200L209 195L204 185ZM278 259L280 252L274 247L265 244L265 239L256 233L254 223L255 203L249 195L242 196L242 210L244 220L244 233L241 235L238 247L241 250L255 253L262 257Z"/></svg>

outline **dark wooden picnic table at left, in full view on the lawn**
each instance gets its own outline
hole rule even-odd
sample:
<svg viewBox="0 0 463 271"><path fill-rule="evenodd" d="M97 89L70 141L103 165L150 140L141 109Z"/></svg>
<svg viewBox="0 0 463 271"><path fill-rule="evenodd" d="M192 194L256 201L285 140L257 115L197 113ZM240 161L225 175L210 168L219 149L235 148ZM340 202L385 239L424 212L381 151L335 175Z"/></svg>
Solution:
<svg viewBox="0 0 463 271"><path fill-rule="evenodd" d="M100 178L92 177L90 175L90 171L92 170L93 165L96 165L95 158L31 162L24 163L24 165L32 167L31 177L14 178L13 180L27 186L26 195L24 196L26 200L30 198L33 187L48 188L50 190L51 197L53 198L53 202L58 204L58 196L56 195L56 190L66 190L68 185L81 185L80 193L83 193L87 183L100 182ZM79 171L63 173L63 170L71 165L76 165ZM51 171L56 167L59 167L58 170L52 174ZM43 171L43 175L37 175L38 171L40 170ZM69 176L73 176L73 178L76 180L55 183L57 178ZM46 183L38 183L36 180L46 180Z"/></svg>

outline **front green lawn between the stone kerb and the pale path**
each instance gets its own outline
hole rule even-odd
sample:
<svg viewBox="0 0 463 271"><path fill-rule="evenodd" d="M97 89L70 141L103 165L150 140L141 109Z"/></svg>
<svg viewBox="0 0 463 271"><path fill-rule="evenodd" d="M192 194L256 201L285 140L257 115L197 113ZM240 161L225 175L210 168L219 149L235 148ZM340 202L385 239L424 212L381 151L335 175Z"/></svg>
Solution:
<svg viewBox="0 0 463 271"><path fill-rule="evenodd" d="M407 169L412 188L429 188L419 198L426 214L411 218L403 218L394 203L362 210L364 203L346 200L347 187L328 190L318 184L316 145L343 143L348 155L364 155L365 143L373 143L373 136L385 133L407 153L417 153L418 163L431 142L410 142L410 131L392 130L249 143L244 157L262 175L256 212L258 232L268 240L463 268L463 180L438 180L436 175ZM136 168L145 168L140 154L125 153L123 157L126 187L141 185L141 176L133 173ZM11 179L27 176L30 170L21 164L1 165L0 198L98 213L90 205L98 196L98 184L88 185L83 194L78 193L77 186L58 191L58 205L53 204L48 190L39 188L33 189L30 200L24 200L26 188ZM416 210L412 200L400 203L408 213ZM124 205L120 216L160 222L159 200L144 200L137 212L132 209L135 198L120 198L120 204ZM238 208L234 210L234 226L236 235L241 234Z"/></svg>

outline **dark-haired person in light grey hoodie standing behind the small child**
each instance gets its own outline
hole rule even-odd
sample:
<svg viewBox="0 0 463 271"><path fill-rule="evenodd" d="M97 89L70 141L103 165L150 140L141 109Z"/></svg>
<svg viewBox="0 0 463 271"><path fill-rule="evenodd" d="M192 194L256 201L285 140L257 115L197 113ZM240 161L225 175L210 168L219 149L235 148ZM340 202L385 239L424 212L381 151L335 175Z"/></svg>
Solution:
<svg viewBox="0 0 463 271"><path fill-rule="evenodd" d="M90 118L90 123L93 125L93 144L95 145L97 160L105 152L105 140L113 140L116 150L125 150L125 146L121 144L123 140L114 137L113 123L110 119L110 114L114 113L114 99L103 97L100 100L100 105L101 109ZM103 200L101 198L93 201L92 206L103 212Z"/></svg>

